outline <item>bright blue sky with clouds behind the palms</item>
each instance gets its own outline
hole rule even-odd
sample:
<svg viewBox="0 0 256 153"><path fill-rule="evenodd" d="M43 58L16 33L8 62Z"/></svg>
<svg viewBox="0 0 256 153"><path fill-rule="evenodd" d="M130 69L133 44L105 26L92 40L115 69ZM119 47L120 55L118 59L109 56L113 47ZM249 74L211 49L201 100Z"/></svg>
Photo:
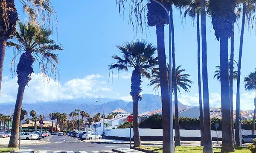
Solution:
<svg viewBox="0 0 256 153"><path fill-rule="evenodd" d="M20 19L26 18L22 12L21 4L15 1ZM125 7L124 14L119 14L116 8L116 0L52 0L58 18L58 43L62 44L64 51L59 52L60 82L58 87L55 83L42 83L39 81L38 64L34 64L34 80L26 87L24 102L41 102L61 99L76 99L81 97L109 97L129 100L131 86L131 71L119 72L119 79L114 71L109 79L108 65L114 62L111 55L119 54L116 45L123 44L135 39L145 39L156 42L155 27L149 27L147 35L140 32L134 34L134 28L128 24L128 6ZM198 105L198 81L197 81L197 39L195 24L190 18L180 18L180 11L174 10L175 24L175 51L176 65L182 65L187 73L191 75L194 82L191 93L181 92L180 102L186 105ZM241 21L238 22L241 25ZM56 33L52 39L57 40ZM168 54L168 26L165 27L166 55ZM240 26L235 27L235 59L238 60L239 53ZM244 33L244 49L241 65L241 77L249 74L256 68L254 31L248 28ZM0 102L14 102L17 93L16 78L12 78L10 72L10 62L12 60L12 48L6 51L6 58L3 70L3 90ZM213 107L220 106L220 82L213 79L215 66L219 65L219 42L215 40L214 30L211 20L207 19L207 53L208 53L208 76L209 93ZM168 61L169 59L167 59ZM32 78L33 79L33 78ZM148 87L149 81L143 79L143 94L159 94ZM43 85L42 85L43 84ZM12 87L12 89L11 89ZM40 87L40 88L39 88ZM236 81L234 82L236 87ZM30 89L29 89L30 88ZM54 89L52 89L54 88ZM34 92L34 96L31 96ZM44 94L42 94L44 93ZM73 94L70 94L73 93ZM37 95L38 94L38 95ZM236 89L234 88L234 94ZM36 95L36 96L35 96ZM49 96L50 95L50 96ZM58 95L58 96L56 96ZM44 96L45 98L38 98ZM244 90L241 82L241 107L242 109L253 108L253 98L255 92Z"/></svg>

